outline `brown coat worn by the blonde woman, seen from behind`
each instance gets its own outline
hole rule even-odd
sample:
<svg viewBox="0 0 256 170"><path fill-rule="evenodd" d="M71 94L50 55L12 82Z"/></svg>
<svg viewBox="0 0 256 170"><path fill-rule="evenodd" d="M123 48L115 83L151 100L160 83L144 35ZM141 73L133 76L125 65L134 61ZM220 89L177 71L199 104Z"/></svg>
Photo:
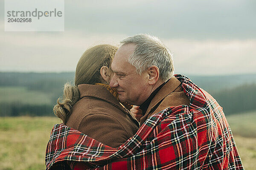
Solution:
<svg viewBox="0 0 256 170"><path fill-rule="evenodd" d="M105 87L82 84L78 88L80 99L67 126L111 147L119 147L137 132L137 120Z"/></svg>

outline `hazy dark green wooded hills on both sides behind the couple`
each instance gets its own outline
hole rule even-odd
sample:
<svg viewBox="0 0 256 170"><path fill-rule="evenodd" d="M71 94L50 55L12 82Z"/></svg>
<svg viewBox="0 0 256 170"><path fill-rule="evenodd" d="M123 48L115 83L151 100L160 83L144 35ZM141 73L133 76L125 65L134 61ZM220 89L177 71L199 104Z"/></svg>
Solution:
<svg viewBox="0 0 256 170"><path fill-rule="evenodd" d="M256 74L186 76L212 94L226 114L256 110ZM0 116L53 115L64 83L74 77L74 72L0 72Z"/></svg>

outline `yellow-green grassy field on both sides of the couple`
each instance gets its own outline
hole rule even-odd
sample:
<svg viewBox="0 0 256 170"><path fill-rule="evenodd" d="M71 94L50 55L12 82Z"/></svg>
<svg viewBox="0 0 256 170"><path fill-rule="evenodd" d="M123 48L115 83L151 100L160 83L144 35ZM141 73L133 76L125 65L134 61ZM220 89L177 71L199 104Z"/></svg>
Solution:
<svg viewBox="0 0 256 170"><path fill-rule="evenodd" d="M256 112L227 117L246 170L256 167ZM0 170L44 170L44 156L55 117L1 117Z"/></svg>

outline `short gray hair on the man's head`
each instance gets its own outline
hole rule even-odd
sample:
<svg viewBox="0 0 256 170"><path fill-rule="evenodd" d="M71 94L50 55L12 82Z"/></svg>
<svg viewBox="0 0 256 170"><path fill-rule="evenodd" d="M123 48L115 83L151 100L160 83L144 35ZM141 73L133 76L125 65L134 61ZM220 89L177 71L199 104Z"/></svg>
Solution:
<svg viewBox="0 0 256 170"><path fill-rule="evenodd" d="M136 45L128 62L134 65L137 74L142 74L147 68L156 65L160 71L159 78L164 82L174 75L173 54L157 37L137 34L122 40L121 44Z"/></svg>

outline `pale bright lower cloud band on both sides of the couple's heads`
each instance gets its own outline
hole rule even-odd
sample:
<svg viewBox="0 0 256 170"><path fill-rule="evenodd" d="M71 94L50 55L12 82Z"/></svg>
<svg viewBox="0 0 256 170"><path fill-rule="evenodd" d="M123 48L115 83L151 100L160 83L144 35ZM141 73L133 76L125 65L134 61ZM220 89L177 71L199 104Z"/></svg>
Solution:
<svg viewBox="0 0 256 170"><path fill-rule="evenodd" d="M98 44L118 45L126 34L0 32L0 71L75 71L83 52ZM256 73L256 39L160 39L174 53L175 72Z"/></svg>

